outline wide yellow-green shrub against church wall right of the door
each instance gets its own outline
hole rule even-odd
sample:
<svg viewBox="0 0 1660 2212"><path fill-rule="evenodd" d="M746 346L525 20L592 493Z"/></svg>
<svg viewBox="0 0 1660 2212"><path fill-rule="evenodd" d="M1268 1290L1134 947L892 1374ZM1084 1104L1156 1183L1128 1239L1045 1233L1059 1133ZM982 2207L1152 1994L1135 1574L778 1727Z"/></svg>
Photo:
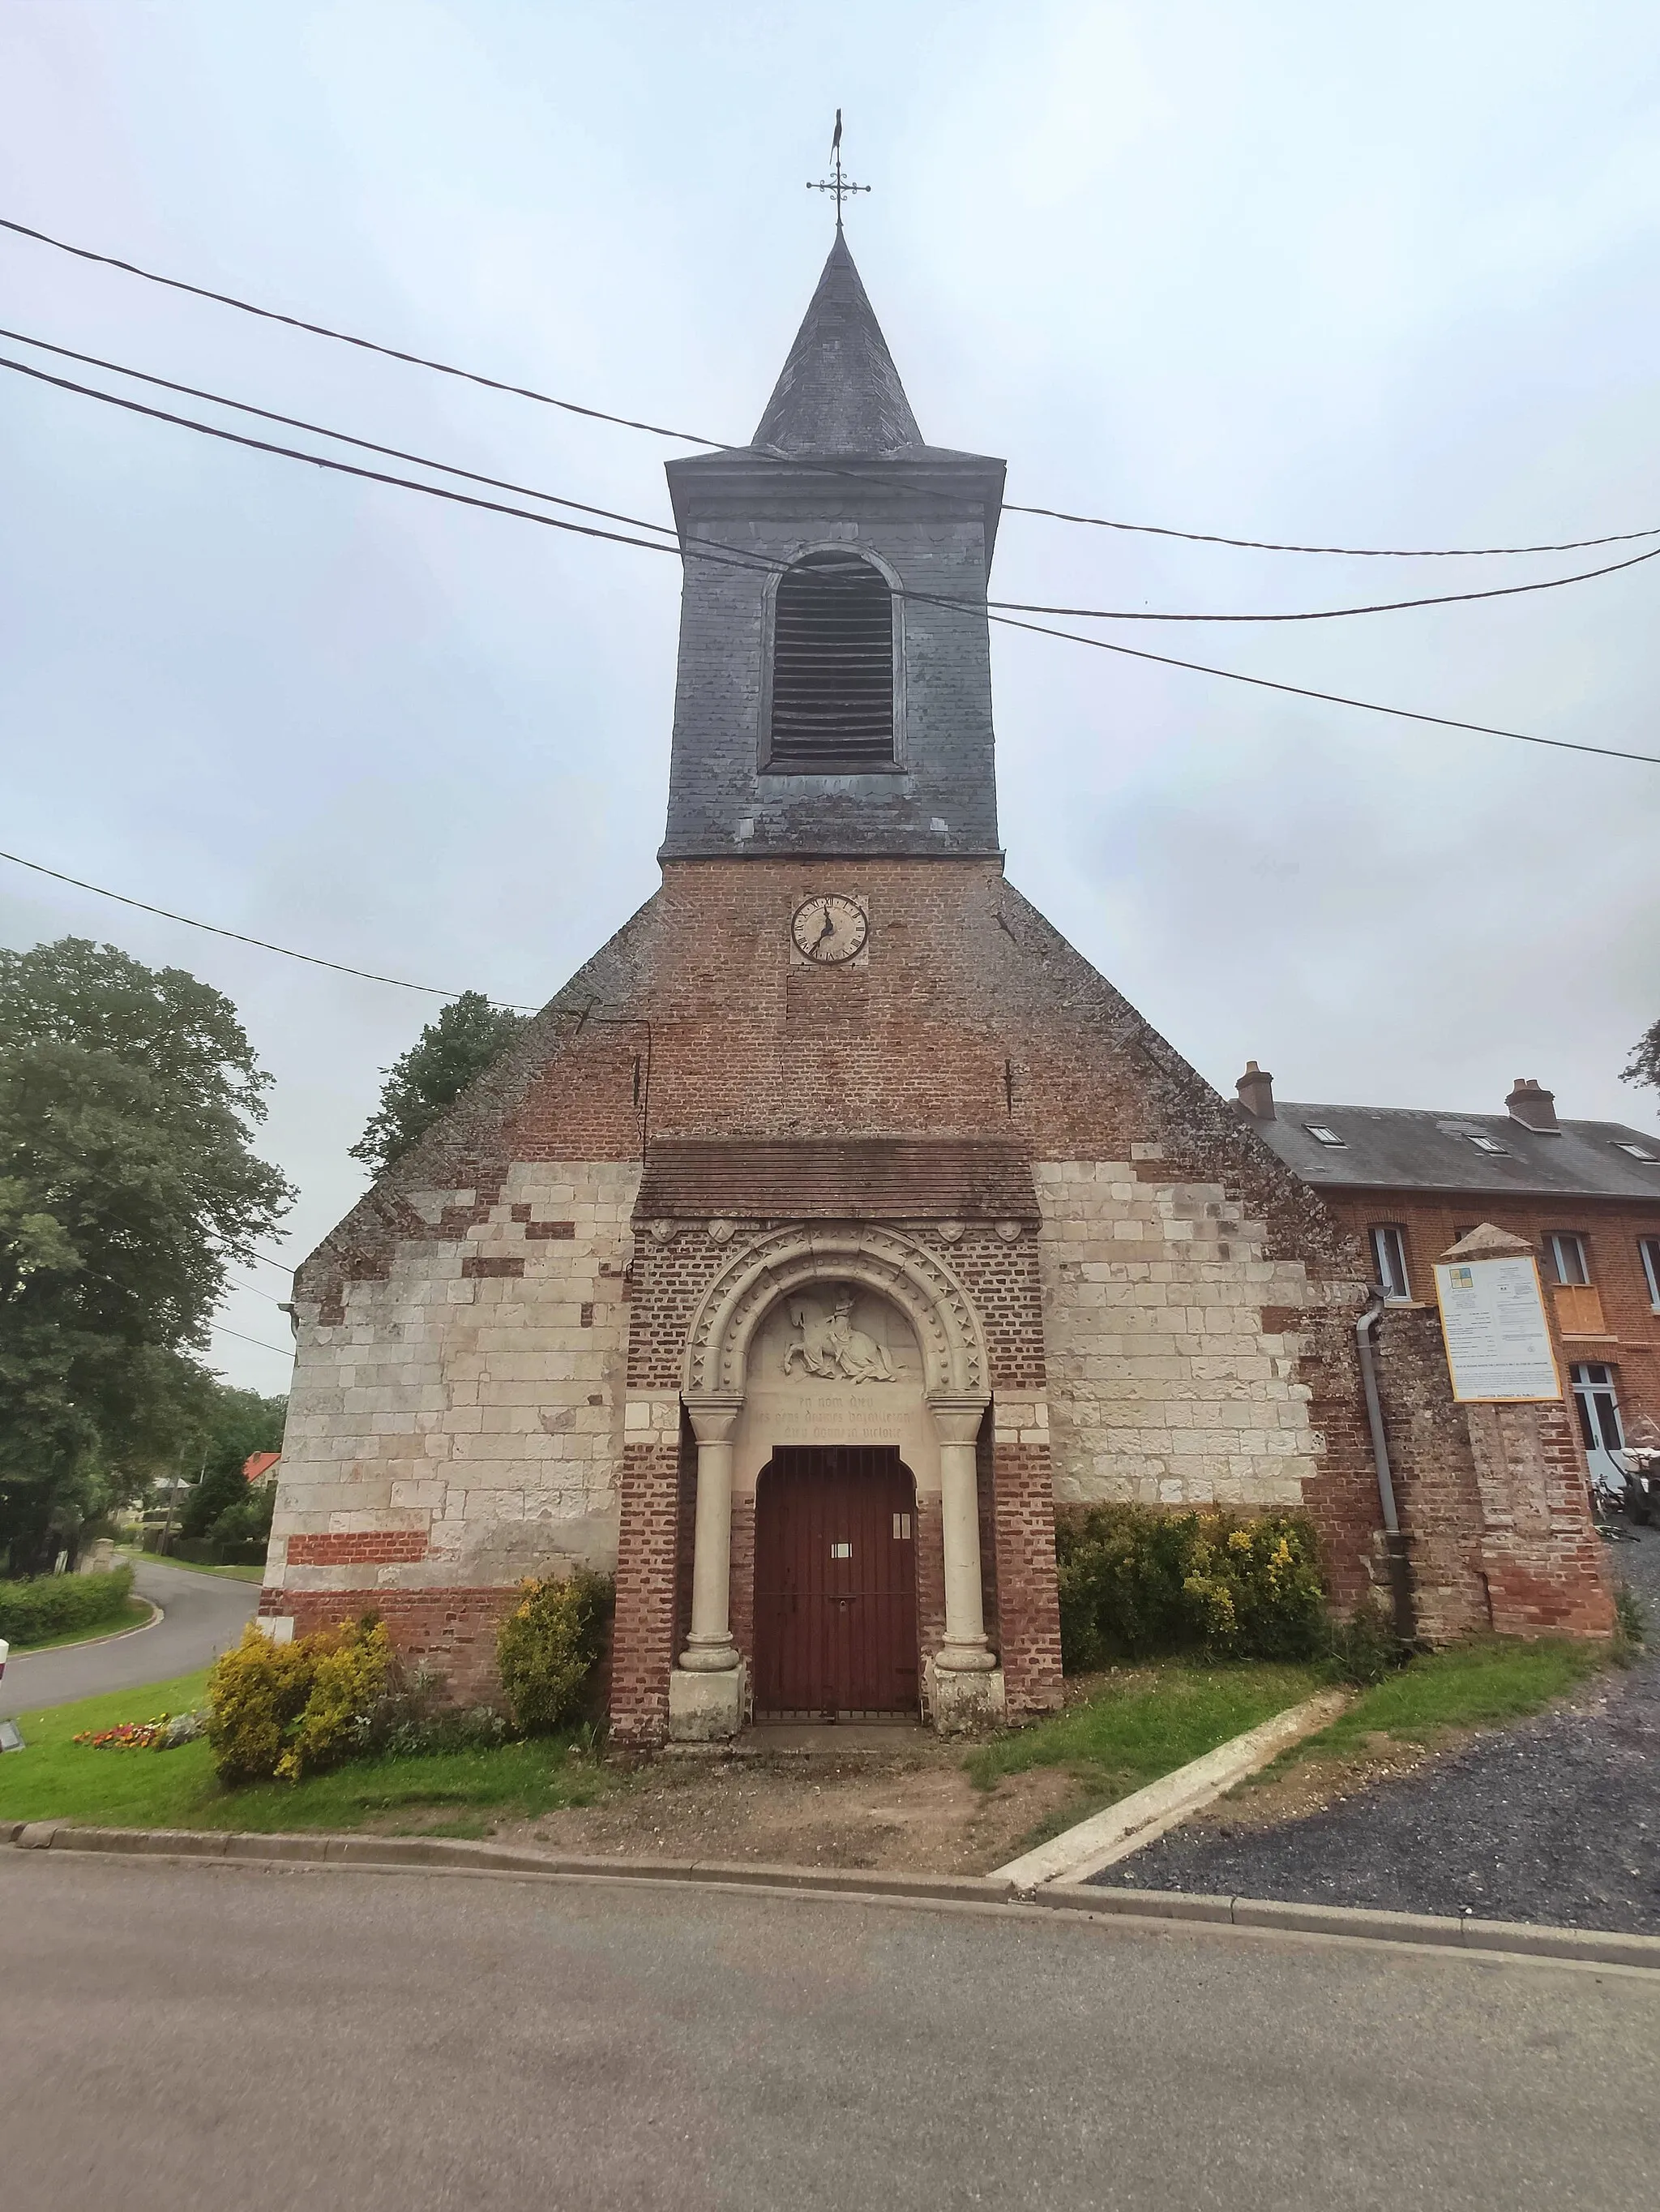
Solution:
<svg viewBox="0 0 1660 2212"><path fill-rule="evenodd" d="M1302 1515L1094 1506L1057 1531L1057 1577L1070 1674L1185 1648L1240 1659L1322 1648L1326 1604Z"/></svg>

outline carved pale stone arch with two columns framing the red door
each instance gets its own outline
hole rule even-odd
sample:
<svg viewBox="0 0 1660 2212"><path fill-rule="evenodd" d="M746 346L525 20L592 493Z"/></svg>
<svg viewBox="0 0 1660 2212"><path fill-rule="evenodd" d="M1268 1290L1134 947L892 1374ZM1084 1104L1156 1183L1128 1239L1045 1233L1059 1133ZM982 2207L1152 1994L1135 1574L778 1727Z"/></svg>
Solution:
<svg viewBox="0 0 1660 2212"><path fill-rule="evenodd" d="M1004 1677L986 1639L975 1444L990 1405L986 1334L950 1267L884 1223L769 1230L710 1283L687 1334L681 1396L698 1444L692 1630L670 1677L670 1736L718 1741L743 1725L743 1659L732 1639L734 1433L749 1387L756 1332L782 1298L813 1285L862 1287L908 1321L922 1356L922 1396L939 1460L946 1635L928 1661L939 1728L1004 1710Z"/></svg>

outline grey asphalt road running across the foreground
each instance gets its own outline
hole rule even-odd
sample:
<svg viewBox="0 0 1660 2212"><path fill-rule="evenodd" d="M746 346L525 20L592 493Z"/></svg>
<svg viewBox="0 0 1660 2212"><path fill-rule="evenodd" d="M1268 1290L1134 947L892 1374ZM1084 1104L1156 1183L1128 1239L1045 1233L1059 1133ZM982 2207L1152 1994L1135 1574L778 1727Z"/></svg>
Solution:
<svg viewBox="0 0 1660 2212"><path fill-rule="evenodd" d="M0 1847L11 2212L1625 2212L1660 1975Z"/></svg>

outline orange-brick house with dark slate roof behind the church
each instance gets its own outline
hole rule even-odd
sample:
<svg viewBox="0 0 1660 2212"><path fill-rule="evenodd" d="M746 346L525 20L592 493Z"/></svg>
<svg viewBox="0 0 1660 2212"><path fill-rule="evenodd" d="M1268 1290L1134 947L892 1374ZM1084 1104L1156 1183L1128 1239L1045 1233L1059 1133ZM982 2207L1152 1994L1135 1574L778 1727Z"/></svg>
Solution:
<svg viewBox="0 0 1660 2212"><path fill-rule="evenodd" d="M1538 1254L1587 1453L1631 1429L1660 1442L1660 1137L1558 1121L1516 1077L1501 1115L1401 1106L1275 1106L1255 1062L1242 1110L1355 1232L1401 1312L1435 1310L1435 1261L1492 1221Z"/></svg>

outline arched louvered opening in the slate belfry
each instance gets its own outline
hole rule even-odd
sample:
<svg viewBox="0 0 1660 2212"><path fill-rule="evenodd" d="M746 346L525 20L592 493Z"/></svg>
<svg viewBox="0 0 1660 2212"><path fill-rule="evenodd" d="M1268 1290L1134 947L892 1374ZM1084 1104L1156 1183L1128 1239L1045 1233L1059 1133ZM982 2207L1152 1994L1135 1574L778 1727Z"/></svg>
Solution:
<svg viewBox="0 0 1660 2212"><path fill-rule="evenodd" d="M778 584L769 768L893 761L893 595L858 553L809 553Z"/></svg>

